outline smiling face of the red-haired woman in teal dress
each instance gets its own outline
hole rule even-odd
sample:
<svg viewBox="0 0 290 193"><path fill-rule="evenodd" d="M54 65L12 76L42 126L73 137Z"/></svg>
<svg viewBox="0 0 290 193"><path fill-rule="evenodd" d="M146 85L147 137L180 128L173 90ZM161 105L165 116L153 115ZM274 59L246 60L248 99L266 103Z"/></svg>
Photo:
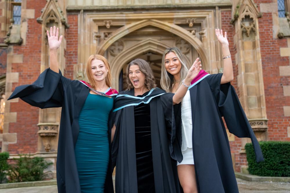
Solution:
<svg viewBox="0 0 290 193"><path fill-rule="evenodd" d="M106 68L102 60L93 59L91 62L91 73L95 81L98 81L98 82L106 81L108 69Z"/></svg>

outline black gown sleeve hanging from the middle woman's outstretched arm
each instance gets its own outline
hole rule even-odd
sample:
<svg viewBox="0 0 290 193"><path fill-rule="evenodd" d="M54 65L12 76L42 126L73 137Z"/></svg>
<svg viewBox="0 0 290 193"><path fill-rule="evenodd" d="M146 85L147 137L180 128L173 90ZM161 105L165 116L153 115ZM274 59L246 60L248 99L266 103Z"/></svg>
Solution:
<svg viewBox="0 0 290 193"><path fill-rule="evenodd" d="M166 93L160 96L164 110L166 130L168 134L168 146L172 159L182 161L181 136L178 129L181 129L181 103L173 105L173 93Z"/></svg>

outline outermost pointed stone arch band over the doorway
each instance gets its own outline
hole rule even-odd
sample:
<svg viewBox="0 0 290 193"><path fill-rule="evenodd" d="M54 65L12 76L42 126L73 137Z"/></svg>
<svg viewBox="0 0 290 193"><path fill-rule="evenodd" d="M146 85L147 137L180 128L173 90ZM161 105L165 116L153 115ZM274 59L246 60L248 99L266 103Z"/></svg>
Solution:
<svg viewBox="0 0 290 193"><path fill-rule="evenodd" d="M155 20L155 19L138 21L138 22L131 23L129 25L125 25L125 26L117 29L116 31L114 31L112 33L112 35L106 41L103 41L103 42L101 42L101 44L98 45L97 50L96 50L96 54L103 55L104 52L110 47L110 45L113 44L115 41L126 36L127 34L130 34L133 31L136 31L137 29L140 29L140 28L143 28L146 26L153 26L153 27L163 29L165 31L168 31L168 32L186 40L198 52L198 54L200 55L201 61L202 61L203 65L205 66L205 68L207 68L209 66L209 60L208 60L206 51L203 48L202 42L197 37L193 36L189 31L187 31L186 29L183 29L182 27L180 27L178 25L170 24L167 22L162 22L162 21ZM163 51L165 49L163 49Z"/></svg>

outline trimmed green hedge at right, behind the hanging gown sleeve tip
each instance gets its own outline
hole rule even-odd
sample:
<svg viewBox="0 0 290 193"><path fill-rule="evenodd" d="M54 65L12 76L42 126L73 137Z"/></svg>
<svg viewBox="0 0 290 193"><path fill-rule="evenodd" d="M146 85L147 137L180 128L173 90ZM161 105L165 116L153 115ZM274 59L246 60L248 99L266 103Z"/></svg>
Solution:
<svg viewBox="0 0 290 193"><path fill-rule="evenodd" d="M258 176L290 177L290 142L262 141L259 143L264 162L256 162L251 143L245 146L249 173Z"/></svg>

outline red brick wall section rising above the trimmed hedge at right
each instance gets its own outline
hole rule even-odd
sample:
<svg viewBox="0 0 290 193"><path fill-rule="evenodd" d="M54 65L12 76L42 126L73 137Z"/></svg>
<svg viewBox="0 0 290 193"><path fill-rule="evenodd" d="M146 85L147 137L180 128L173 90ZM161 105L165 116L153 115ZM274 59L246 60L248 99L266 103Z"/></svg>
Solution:
<svg viewBox="0 0 290 193"><path fill-rule="evenodd" d="M255 0L260 3L272 3L269 0ZM264 77L264 90L268 121L269 140L290 141L287 127L290 117L284 116L283 106L290 106L290 96L284 96L283 86L290 85L289 76L280 76L279 66L289 66L289 57L280 56L280 48L288 47L287 39L273 37L273 14L263 13L259 19L260 48Z"/></svg>

